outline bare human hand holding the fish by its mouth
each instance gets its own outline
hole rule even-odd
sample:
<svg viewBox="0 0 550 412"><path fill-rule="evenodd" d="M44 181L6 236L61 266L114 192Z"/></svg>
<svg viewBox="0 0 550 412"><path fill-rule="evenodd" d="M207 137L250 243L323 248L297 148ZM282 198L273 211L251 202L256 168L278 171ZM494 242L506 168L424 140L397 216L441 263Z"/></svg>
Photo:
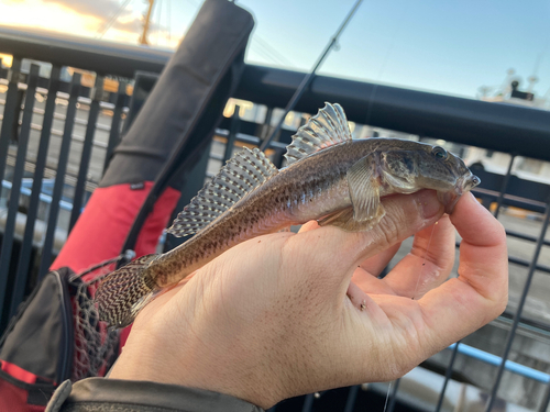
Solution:
<svg viewBox="0 0 550 412"><path fill-rule="evenodd" d="M299 234L231 248L140 313L111 378L209 389L268 408L395 379L502 313L506 237L473 196L450 216L431 191L383 204L386 216L370 232L310 222ZM446 281L453 225L462 236L460 277ZM376 278L415 233L411 253Z"/></svg>

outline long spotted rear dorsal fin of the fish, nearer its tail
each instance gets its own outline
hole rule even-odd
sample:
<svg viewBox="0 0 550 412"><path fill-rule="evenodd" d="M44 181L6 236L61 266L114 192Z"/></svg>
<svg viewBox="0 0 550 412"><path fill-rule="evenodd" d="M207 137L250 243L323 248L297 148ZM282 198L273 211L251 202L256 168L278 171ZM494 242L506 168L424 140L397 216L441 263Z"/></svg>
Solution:
<svg viewBox="0 0 550 412"><path fill-rule="evenodd" d="M200 232L276 172L277 168L263 152L244 147L193 198L167 232L177 237Z"/></svg>

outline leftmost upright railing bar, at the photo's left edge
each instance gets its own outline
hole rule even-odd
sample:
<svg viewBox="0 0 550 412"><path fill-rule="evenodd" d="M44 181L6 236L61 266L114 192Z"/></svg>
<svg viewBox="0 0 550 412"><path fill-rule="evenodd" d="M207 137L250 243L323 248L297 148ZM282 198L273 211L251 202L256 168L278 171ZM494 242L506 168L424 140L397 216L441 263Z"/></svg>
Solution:
<svg viewBox="0 0 550 412"><path fill-rule="evenodd" d="M13 56L10 75L8 76L10 81L8 85L8 92L6 93L2 127L0 129L0 182L4 177L6 160L8 159L8 151L10 148L11 132L15 115L15 104L18 102L20 70L21 57ZM2 189L0 188L0 193Z"/></svg>

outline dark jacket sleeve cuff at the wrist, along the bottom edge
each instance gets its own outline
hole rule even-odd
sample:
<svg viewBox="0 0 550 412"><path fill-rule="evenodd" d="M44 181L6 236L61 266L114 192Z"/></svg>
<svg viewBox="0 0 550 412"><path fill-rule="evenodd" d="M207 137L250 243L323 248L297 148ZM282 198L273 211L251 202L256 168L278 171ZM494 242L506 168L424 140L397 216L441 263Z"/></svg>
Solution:
<svg viewBox="0 0 550 412"><path fill-rule="evenodd" d="M177 411L262 412L258 407L228 394L177 385L88 378L73 385L70 394L55 397L48 412ZM64 401L64 402L63 402ZM63 403L62 403L63 402Z"/></svg>

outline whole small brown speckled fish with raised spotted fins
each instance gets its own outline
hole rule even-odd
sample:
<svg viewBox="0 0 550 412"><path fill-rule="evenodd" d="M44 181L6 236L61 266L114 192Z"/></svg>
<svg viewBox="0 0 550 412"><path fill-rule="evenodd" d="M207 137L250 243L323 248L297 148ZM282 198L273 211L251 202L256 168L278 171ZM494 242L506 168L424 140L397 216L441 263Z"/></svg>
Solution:
<svg viewBox="0 0 550 412"><path fill-rule="evenodd" d="M369 231L385 214L381 198L421 189L436 190L451 213L459 198L480 183L443 147L399 138L353 140L338 103L326 103L297 131L285 157L282 169L257 148L229 159L167 230L193 237L105 278L95 297L100 319L113 327L129 325L158 293L255 236L311 220Z"/></svg>

